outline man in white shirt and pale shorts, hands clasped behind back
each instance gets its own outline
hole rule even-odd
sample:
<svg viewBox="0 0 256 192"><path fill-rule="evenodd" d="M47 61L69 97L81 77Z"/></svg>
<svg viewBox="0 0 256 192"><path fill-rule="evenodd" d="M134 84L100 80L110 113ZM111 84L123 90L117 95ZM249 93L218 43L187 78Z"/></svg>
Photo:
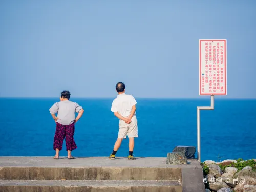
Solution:
<svg viewBox="0 0 256 192"><path fill-rule="evenodd" d="M109 159L115 159L116 152L120 147L122 140L129 137L129 160L136 159L133 157L134 138L138 137L138 125L136 118L136 100L132 95L125 94L125 85L122 82L116 84L117 98L114 99L111 111L119 119L118 138L114 145L114 150L110 154Z"/></svg>

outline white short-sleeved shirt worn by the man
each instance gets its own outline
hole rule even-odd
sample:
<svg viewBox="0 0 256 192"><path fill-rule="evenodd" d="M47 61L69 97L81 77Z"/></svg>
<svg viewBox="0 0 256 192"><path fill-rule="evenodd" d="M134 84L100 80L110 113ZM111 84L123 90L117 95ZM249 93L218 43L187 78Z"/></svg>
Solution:
<svg viewBox="0 0 256 192"><path fill-rule="evenodd" d="M118 112L121 116L127 117L131 114L132 106L136 104L137 102L132 95L122 93L118 95L117 98L115 98L112 102L111 111Z"/></svg>

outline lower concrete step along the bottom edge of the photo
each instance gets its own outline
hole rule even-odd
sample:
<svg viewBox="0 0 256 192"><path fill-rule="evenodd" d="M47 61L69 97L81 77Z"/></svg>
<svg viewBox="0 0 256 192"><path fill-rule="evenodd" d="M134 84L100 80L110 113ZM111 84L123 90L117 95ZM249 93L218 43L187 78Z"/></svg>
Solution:
<svg viewBox="0 0 256 192"><path fill-rule="evenodd" d="M2 192L182 192L177 181L0 180Z"/></svg>

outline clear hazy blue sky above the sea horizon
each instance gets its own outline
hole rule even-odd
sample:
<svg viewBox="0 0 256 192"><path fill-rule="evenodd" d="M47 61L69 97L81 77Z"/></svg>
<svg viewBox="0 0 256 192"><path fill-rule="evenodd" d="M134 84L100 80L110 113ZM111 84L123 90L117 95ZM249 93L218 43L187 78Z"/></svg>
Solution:
<svg viewBox="0 0 256 192"><path fill-rule="evenodd" d="M1 1L0 97L198 96L198 40L227 39L227 96L256 98L256 1ZM205 96L203 97L205 98Z"/></svg>

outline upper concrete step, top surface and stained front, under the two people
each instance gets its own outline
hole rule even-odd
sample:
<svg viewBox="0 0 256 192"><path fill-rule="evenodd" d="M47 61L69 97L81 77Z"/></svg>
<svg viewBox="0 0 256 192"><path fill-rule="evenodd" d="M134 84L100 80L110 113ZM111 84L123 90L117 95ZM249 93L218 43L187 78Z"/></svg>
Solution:
<svg viewBox="0 0 256 192"><path fill-rule="evenodd" d="M0 179L180 180L181 166L170 166L165 161L166 158L54 160L52 157L1 157Z"/></svg>

